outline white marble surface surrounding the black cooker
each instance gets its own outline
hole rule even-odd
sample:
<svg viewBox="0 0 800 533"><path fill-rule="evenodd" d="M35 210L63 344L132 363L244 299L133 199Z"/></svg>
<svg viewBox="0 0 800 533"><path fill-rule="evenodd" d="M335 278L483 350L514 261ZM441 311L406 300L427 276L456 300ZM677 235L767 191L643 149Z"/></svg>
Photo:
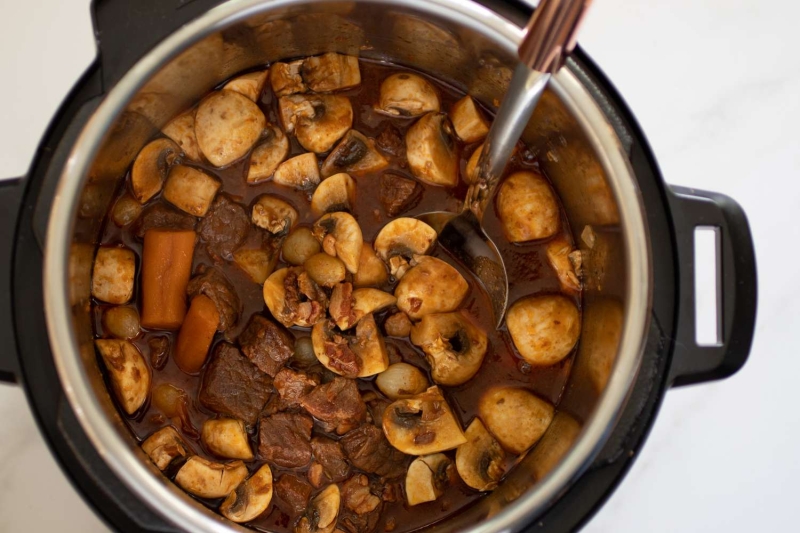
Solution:
<svg viewBox="0 0 800 533"><path fill-rule="evenodd" d="M91 61L88 5L0 1L0 176L25 173ZM586 22L584 48L634 110L665 179L744 206L760 298L745 369L668 393L641 456L585 531L795 529L798 16L786 0L602 0ZM0 386L0 420L0 532L106 531L49 455L19 389Z"/></svg>

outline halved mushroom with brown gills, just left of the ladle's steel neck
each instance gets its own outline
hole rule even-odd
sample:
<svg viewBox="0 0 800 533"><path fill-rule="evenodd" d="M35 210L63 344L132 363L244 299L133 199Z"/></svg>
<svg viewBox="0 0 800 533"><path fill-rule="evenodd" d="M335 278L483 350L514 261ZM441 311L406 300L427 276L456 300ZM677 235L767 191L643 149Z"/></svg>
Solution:
<svg viewBox="0 0 800 533"><path fill-rule="evenodd" d="M444 113L428 113L408 129L406 156L420 181L441 187L458 185L458 145Z"/></svg>

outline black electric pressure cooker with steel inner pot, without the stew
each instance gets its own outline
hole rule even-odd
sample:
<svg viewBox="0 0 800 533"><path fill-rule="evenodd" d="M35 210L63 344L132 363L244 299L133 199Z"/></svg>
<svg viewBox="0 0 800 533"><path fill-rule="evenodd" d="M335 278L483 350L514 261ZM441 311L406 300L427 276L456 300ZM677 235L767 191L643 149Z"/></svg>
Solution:
<svg viewBox="0 0 800 533"><path fill-rule="evenodd" d="M92 261L108 204L143 144L231 75L329 51L431 73L496 107L531 9L513 0L94 1L96 60L29 174L0 185L0 375L25 389L53 454L110 526L244 530L161 476L97 364ZM630 468L667 390L733 374L753 337L745 214L721 194L664 183L633 115L580 48L523 138L558 190L583 258L583 332L559 406L579 428L554 424L497 490L430 531L579 528ZM695 335L697 227L718 235L712 346Z"/></svg>

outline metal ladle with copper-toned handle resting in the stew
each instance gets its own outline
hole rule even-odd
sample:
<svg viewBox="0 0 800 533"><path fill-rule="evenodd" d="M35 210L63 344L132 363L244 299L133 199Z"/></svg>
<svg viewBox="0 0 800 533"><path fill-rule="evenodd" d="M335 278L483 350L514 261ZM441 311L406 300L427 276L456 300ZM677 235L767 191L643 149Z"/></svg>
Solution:
<svg viewBox="0 0 800 533"><path fill-rule="evenodd" d="M525 126L544 93L550 76L575 46L578 25L590 0L542 0L531 16L519 46L503 103L489 129L461 213L433 211L417 218L433 227L439 243L483 283L492 301L497 327L508 305L508 274L497 246L481 226L503 171Z"/></svg>

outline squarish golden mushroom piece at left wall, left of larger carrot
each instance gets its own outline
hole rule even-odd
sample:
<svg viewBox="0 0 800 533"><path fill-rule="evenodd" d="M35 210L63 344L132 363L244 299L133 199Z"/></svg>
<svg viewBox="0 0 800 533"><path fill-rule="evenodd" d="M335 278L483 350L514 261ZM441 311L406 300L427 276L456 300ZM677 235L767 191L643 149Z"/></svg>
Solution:
<svg viewBox="0 0 800 533"><path fill-rule="evenodd" d="M133 297L136 256L128 248L101 246L92 270L92 296L110 304L124 304Z"/></svg>

